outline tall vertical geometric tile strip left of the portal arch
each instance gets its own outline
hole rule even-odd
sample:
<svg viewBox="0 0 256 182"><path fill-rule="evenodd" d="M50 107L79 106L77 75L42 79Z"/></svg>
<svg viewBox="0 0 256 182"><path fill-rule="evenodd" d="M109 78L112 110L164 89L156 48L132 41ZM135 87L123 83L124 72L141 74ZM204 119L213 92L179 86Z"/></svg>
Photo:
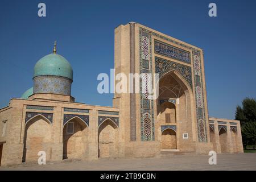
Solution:
<svg viewBox="0 0 256 182"><path fill-rule="evenodd" d="M154 125L154 102L149 99L152 85L152 51L151 35L139 28L139 49L140 49L140 73L144 73L140 79L141 93L141 140L155 140Z"/></svg>

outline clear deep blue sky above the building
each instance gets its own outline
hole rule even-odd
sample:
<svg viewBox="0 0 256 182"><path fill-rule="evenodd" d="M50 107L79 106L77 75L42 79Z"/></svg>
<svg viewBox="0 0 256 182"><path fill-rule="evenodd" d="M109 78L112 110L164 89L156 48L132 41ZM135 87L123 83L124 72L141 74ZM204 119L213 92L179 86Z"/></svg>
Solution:
<svg viewBox="0 0 256 182"><path fill-rule="evenodd" d="M46 18L38 17L40 2ZM210 116L233 119L243 98L255 98L256 1L1 0L0 107L32 86L34 65L54 40L72 64L76 101L111 106L112 94L97 93L97 75L114 68L114 28L131 21L204 49Z"/></svg>

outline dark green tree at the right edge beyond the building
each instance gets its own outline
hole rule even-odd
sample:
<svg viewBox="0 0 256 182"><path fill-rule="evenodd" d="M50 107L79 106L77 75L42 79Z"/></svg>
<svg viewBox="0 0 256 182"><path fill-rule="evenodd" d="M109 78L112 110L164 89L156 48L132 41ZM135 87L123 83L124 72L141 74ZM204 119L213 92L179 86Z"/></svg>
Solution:
<svg viewBox="0 0 256 182"><path fill-rule="evenodd" d="M254 132L254 130L253 129L249 130L248 127L252 126L251 123L256 123L256 101L255 101L255 98L246 97L242 101L242 107L240 105L237 106L236 119L240 120L240 123L241 123L242 139L243 139L243 145L244 145L245 149L246 149L247 144L253 144L253 146L254 146L255 138L253 139L253 133L249 135L249 133Z"/></svg>

